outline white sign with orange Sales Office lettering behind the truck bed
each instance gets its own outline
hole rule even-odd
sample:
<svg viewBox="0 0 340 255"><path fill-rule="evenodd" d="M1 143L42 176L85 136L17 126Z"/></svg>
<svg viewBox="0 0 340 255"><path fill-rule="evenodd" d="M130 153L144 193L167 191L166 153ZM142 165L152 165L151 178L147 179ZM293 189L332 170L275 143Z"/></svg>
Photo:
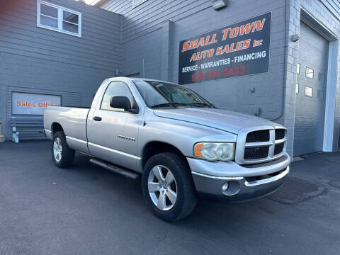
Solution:
<svg viewBox="0 0 340 255"><path fill-rule="evenodd" d="M12 92L12 114L43 115L47 106L60 106L61 96Z"/></svg>

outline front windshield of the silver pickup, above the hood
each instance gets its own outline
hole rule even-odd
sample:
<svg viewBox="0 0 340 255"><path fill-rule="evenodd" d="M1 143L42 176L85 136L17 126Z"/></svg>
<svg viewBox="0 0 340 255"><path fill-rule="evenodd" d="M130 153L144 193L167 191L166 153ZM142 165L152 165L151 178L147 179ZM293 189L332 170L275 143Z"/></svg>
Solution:
<svg viewBox="0 0 340 255"><path fill-rule="evenodd" d="M150 108L177 106L215 108L202 96L180 85L161 81L134 80L134 82Z"/></svg>

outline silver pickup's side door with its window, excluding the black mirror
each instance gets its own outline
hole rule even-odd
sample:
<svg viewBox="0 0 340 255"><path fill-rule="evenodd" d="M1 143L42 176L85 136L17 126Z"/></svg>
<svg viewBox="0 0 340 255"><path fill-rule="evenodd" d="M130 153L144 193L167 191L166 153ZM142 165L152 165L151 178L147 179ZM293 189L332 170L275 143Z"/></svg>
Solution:
<svg viewBox="0 0 340 255"><path fill-rule="evenodd" d="M89 151L94 157L113 164L135 169L137 154L137 132L142 123L142 113L128 113L123 109L111 108L114 96L126 96L134 101L132 93L122 81L112 81L106 87L101 102L89 116L87 134Z"/></svg>

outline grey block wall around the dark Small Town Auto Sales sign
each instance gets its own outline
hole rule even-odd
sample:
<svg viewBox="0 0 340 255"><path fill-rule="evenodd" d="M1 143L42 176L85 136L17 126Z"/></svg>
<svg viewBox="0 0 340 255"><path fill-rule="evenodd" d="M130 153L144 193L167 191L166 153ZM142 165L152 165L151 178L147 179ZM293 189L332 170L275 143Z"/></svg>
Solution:
<svg viewBox="0 0 340 255"><path fill-rule="evenodd" d="M123 74L178 81L179 42L272 11L270 67L266 74L203 81L188 85L219 108L254 114L283 123L285 60L284 1L228 1L215 11L211 1L152 1L136 8L132 1L102 6L121 13ZM144 70L142 63L144 60ZM250 88L255 92L251 93Z"/></svg>

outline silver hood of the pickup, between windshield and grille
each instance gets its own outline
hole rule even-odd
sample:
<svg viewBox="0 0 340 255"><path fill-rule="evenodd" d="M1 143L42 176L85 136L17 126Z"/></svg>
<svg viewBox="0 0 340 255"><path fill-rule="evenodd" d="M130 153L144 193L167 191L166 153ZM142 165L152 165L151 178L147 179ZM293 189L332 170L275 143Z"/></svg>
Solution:
<svg viewBox="0 0 340 255"><path fill-rule="evenodd" d="M205 125L238 134L239 130L255 126L278 125L263 118L244 113L220 110L216 108L171 108L154 110L154 115L162 118L182 120L189 123Z"/></svg>

